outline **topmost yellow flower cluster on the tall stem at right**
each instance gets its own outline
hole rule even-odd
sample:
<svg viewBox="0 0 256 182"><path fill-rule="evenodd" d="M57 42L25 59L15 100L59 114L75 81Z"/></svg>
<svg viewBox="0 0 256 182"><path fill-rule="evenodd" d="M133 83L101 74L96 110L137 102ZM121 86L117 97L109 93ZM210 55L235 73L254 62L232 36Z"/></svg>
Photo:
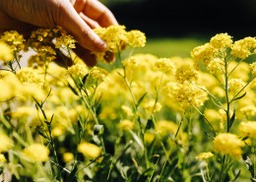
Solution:
<svg viewBox="0 0 256 182"><path fill-rule="evenodd" d="M210 40L213 47L217 49L222 49L225 47L230 47L232 45L232 37L225 33L219 33L213 36Z"/></svg>

